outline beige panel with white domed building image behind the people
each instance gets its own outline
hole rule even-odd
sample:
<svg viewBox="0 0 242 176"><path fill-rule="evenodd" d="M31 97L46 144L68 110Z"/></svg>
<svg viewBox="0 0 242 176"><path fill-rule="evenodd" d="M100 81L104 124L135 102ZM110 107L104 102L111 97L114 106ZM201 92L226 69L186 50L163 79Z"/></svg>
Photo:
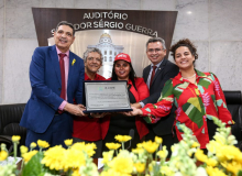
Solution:
<svg viewBox="0 0 242 176"><path fill-rule="evenodd" d="M82 57L84 52L90 47L98 47L102 55L103 62L98 74L105 78L112 75L112 65L116 55L127 53L131 57L132 66L138 77L142 77L143 68L150 63L146 57L147 35L118 30L87 30L77 31L75 41L70 46L70 51ZM47 38L48 45L54 45L54 37Z"/></svg>

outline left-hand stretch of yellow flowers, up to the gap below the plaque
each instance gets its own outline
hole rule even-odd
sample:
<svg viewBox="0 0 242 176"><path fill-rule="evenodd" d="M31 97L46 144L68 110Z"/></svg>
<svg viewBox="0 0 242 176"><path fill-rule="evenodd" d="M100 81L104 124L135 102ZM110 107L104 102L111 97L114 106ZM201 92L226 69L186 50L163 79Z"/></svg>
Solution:
<svg viewBox="0 0 242 176"><path fill-rule="evenodd" d="M14 156L16 155L15 148L20 138L18 140L15 140L15 136L12 138ZM84 142L73 144L73 140L66 140L65 144L68 148L56 145L43 151L50 144L38 140L37 144L31 143L29 152L26 146L21 146L22 169L18 170L15 164L7 164L0 166L0 176L98 176L97 166L92 163L91 158L95 154L95 144L85 144ZM36 146L40 147L40 151L34 150ZM2 147L0 158L3 161L7 157L8 151L6 147Z"/></svg>

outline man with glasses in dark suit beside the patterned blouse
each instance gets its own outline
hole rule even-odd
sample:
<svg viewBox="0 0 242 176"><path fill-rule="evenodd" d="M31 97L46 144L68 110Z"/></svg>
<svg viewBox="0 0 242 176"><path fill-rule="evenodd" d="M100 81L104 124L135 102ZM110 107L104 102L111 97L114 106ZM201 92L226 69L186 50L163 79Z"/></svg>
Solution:
<svg viewBox="0 0 242 176"><path fill-rule="evenodd" d="M168 59L164 59L166 56L166 46L163 38L150 38L146 43L146 55L152 64L144 68L143 78L150 89L150 97L140 103L135 103L136 108L144 107L146 103L157 102L166 80L174 78L179 72L179 68L175 64ZM145 136L145 141L154 141L156 135L161 136L163 139L163 145L167 146L170 154L170 145L174 144L172 134L174 110L157 123L148 124L150 133Z"/></svg>

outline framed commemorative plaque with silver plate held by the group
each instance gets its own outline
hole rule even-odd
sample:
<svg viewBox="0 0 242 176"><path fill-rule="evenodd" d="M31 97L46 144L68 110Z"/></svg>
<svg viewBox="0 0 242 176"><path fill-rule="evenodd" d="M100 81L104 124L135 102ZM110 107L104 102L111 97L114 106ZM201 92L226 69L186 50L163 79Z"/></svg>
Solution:
<svg viewBox="0 0 242 176"><path fill-rule="evenodd" d="M124 80L85 81L85 112L132 111Z"/></svg>

